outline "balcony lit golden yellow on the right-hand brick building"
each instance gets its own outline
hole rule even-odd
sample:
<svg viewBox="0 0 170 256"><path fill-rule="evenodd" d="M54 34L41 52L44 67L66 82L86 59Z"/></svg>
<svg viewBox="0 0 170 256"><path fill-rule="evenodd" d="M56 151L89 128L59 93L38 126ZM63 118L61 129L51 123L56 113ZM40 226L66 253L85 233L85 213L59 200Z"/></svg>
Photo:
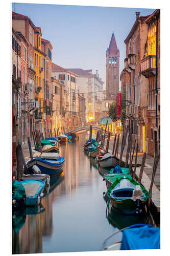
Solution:
<svg viewBox="0 0 170 256"><path fill-rule="evenodd" d="M141 74L147 78L156 75L156 55L149 55L141 60Z"/></svg>

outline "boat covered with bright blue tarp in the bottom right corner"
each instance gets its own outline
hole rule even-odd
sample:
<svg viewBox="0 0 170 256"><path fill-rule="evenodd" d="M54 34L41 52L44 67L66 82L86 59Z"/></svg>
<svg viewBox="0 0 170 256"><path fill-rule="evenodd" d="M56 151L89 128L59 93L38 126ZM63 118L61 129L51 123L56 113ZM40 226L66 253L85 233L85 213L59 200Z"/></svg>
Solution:
<svg viewBox="0 0 170 256"><path fill-rule="evenodd" d="M106 241L123 232L122 241L105 247ZM134 224L115 232L103 243L104 250L160 249L160 228L148 224Z"/></svg>

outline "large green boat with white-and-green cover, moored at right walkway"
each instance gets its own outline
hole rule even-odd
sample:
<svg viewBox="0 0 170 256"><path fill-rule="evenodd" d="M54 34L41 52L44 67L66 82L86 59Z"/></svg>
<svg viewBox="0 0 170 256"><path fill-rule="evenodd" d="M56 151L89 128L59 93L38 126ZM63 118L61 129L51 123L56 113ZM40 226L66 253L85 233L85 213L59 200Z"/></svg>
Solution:
<svg viewBox="0 0 170 256"><path fill-rule="evenodd" d="M137 214L149 199L148 191L129 174L115 174L106 196L111 206L123 214Z"/></svg>

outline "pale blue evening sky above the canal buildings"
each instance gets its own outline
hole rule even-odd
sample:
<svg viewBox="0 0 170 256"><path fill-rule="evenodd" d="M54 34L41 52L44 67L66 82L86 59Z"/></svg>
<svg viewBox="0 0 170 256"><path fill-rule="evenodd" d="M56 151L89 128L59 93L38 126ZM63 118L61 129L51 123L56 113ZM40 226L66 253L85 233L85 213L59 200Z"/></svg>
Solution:
<svg viewBox="0 0 170 256"><path fill-rule="evenodd" d="M125 42L136 20L155 9L13 3L12 11L29 16L51 41L52 61L63 68L98 70L106 86L106 50L114 31L124 68ZM120 83L120 82L119 82Z"/></svg>

